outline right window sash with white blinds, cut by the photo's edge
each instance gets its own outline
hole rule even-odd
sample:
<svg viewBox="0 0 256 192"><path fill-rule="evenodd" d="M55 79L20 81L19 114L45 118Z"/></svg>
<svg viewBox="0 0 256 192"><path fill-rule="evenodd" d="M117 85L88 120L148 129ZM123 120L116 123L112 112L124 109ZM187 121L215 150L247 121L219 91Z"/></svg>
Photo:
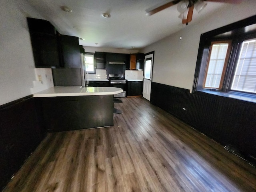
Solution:
<svg viewBox="0 0 256 192"><path fill-rule="evenodd" d="M231 90L256 93L256 38L242 43Z"/></svg>

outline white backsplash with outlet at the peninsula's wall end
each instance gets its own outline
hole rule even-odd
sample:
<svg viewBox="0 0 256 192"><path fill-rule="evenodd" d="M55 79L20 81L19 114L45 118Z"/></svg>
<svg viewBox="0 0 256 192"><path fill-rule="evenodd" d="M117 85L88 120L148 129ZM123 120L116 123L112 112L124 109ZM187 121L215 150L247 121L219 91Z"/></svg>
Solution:
<svg viewBox="0 0 256 192"><path fill-rule="evenodd" d="M35 68L36 80L33 81L33 87L30 88L31 94L53 87L52 69Z"/></svg>

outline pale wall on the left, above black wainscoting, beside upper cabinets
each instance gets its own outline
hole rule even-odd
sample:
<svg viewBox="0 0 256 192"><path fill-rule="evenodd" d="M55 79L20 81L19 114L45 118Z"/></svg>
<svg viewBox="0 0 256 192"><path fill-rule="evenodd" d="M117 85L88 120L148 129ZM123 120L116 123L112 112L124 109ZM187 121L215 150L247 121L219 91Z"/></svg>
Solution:
<svg viewBox="0 0 256 192"><path fill-rule="evenodd" d="M0 1L0 105L30 95L36 81L26 17L43 19L25 0Z"/></svg>

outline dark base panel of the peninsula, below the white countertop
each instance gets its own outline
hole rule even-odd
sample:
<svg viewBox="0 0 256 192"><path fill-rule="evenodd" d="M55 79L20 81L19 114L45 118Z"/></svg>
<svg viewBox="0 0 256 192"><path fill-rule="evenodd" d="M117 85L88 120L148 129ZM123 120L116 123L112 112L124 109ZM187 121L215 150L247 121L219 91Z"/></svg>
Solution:
<svg viewBox="0 0 256 192"><path fill-rule="evenodd" d="M51 132L113 126L113 95L37 98Z"/></svg>

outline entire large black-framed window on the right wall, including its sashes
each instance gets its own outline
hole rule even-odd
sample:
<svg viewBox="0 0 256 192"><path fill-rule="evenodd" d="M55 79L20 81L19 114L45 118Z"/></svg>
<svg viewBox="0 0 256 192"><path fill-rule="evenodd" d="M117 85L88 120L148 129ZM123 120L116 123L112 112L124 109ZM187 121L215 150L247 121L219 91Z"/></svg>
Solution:
<svg viewBox="0 0 256 192"><path fill-rule="evenodd" d="M256 101L256 16L201 34L193 92Z"/></svg>

